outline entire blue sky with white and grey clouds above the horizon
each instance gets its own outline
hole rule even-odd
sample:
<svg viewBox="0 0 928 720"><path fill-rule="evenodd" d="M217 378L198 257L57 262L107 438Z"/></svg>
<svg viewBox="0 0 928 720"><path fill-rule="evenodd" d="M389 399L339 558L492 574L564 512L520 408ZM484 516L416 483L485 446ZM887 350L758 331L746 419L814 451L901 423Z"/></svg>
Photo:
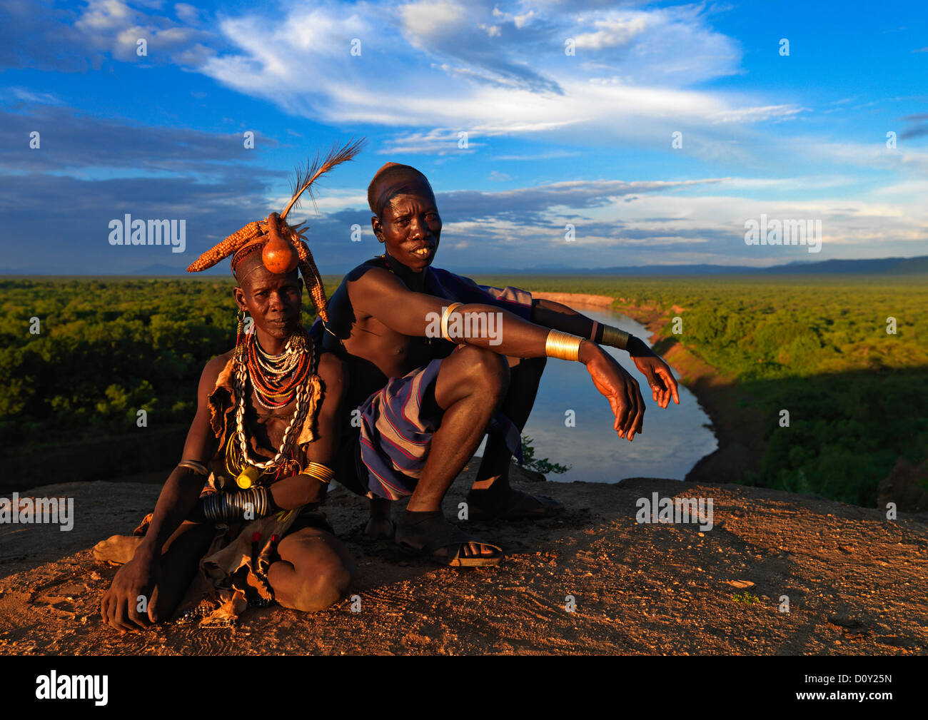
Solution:
<svg viewBox="0 0 928 720"><path fill-rule="evenodd" d="M430 178L449 269L928 252L921 0L12 0L0 68L5 272L182 270L353 136L318 212L291 215L324 273L380 253L366 190L386 161ZM111 246L125 213L185 220L186 251ZM762 213L820 220L821 251L746 245Z"/></svg>

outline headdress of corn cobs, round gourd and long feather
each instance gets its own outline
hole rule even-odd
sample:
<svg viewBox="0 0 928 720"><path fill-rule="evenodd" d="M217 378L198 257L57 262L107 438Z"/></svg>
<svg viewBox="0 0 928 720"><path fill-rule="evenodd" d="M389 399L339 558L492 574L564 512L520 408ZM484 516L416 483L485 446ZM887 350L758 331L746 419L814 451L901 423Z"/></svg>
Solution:
<svg viewBox="0 0 928 720"><path fill-rule="evenodd" d="M220 260L232 255L232 270L235 272L237 261L250 251L261 250L261 259L264 267L269 272L275 274L290 273L294 268L299 267L303 275L303 282L309 289L316 305L316 312L322 318L324 323L329 322L328 300L326 292L322 286L322 277L313 260L313 254L306 245L303 232L306 228L300 225L288 225L286 223L287 214L297 207L303 193L313 199L314 207L316 198L313 195L313 183L322 175L332 170L336 165L342 162L350 161L364 147L364 138L352 140L343 145L341 148L333 146L324 160L319 160L319 154L310 162L306 161L305 167L297 167L294 182L291 186L293 197L283 209L283 212L277 214L272 212L263 221L254 222L245 225L237 233L233 233L228 238L220 242L215 247L204 252L200 257L187 267L188 273L200 273Z"/></svg>

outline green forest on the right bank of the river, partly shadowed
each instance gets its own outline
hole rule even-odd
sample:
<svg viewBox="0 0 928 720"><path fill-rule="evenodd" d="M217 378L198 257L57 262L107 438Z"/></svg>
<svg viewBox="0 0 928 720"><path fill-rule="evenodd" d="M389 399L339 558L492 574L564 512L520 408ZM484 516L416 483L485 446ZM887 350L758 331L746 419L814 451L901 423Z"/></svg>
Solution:
<svg viewBox="0 0 928 720"><path fill-rule="evenodd" d="M679 316L682 343L736 383L763 428L744 482L873 507L899 456L928 456L928 276L483 277L609 295ZM675 310L675 306L677 309ZM887 318L896 318L888 334ZM780 427L780 410L790 413ZM741 419L741 418L739 418ZM724 421L724 418L723 418Z"/></svg>

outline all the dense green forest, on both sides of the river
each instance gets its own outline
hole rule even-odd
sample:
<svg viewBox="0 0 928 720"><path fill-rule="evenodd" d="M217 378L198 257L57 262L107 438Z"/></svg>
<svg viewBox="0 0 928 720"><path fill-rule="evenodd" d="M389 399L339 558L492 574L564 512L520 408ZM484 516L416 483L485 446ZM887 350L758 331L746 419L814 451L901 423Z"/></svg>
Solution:
<svg viewBox="0 0 928 720"><path fill-rule="evenodd" d="M668 324L664 336L733 379L745 411L763 418L760 469L729 481L872 506L898 456L928 455L926 276L478 279L679 315L682 332ZM327 277L327 290L339 280ZM4 446L128 431L139 409L149 424L188 423L202 367L234 344L232 287L214 278L0 281ZM790 410L789 432L779 431L780 408Z"/></svg>

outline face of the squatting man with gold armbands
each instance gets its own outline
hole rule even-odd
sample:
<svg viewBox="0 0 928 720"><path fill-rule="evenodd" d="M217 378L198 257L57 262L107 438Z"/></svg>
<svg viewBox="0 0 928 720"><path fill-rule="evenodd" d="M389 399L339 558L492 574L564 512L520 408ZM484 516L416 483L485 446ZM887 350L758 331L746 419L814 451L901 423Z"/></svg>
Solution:
<svg viewBox="0 0 928 720"><path fill-rule="evenodd" d="M432 190L421 180L407 183L393 195L382 218L373 218L372 225L393 259L418 273L432 264L442 218Z"/></svg>

